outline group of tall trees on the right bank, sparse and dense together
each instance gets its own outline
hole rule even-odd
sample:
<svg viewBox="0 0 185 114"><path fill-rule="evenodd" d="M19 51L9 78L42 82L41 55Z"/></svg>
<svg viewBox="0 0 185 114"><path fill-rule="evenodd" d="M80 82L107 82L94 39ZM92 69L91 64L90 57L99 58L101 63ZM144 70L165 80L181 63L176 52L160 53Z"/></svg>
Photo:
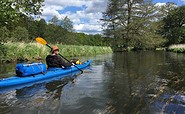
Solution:
<svg viewBox="0 0 185 114"><path fill-rule="evenodd" d="M104 34L116 48L155 49L185 43L185 6L152 0L109 0Z"/></svg>

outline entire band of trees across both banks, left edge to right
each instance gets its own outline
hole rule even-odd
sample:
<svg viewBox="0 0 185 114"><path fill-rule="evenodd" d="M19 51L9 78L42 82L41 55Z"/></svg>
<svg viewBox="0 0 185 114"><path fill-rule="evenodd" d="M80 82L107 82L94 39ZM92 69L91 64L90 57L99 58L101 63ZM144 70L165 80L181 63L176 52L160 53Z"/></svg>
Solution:
<svg viewBox="0 0 185 114"><path fill-rule="evenodd" d="M35 37L50 43L155 49L185 43L185 6L156 5L152 0L109 0L101 21L103 35L76 33L68 17L49 22L35 20L44 0L0 1L0 44L32 42Z"/></svg>

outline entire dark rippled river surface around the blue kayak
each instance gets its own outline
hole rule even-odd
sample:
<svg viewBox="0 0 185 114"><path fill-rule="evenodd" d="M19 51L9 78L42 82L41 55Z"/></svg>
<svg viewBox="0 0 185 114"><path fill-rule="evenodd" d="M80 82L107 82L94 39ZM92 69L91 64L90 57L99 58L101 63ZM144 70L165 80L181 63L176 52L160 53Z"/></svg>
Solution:
<svg viewBox="0 0 185 114"><path fill-rule="evenodd" d="M185 114L185 54L124 52L94 57L90 70L0 94L0 114ZM14 65L0 65L0 78Z"/></svg>

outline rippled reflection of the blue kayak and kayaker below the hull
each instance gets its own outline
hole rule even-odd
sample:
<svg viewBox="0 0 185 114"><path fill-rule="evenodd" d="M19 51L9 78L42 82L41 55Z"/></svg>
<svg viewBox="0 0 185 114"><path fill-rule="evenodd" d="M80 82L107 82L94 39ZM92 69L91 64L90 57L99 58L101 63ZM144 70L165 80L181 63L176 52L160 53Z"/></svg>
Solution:
<svg viewBox="0 0 185 114"><path fill-rule="evenodd" d="M62 88L74 80L75 77L66 77L1 94L0 114L54 114L60 106Z"/></svg>

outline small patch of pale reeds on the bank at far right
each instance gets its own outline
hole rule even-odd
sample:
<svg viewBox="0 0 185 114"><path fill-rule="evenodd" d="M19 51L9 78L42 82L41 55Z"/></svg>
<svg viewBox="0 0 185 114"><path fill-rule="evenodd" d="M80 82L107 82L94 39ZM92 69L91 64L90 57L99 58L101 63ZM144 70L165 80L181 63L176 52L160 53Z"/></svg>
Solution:
<svg viewBox="0 0 185 114"><path fill-rule="evenodd" d="M184 53L185 52L185 44L174 44L168 47L169 51Z"/></svg>

